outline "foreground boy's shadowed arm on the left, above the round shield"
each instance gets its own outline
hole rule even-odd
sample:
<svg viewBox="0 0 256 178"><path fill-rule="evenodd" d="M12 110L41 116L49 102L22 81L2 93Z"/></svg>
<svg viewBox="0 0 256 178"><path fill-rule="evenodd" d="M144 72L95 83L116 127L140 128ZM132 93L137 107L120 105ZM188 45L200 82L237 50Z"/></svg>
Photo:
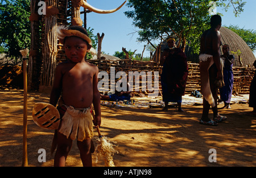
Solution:
<svg viewBox="0 0 256 178"><path fill-rule="evenodd" d="M60 98L61 87L62 87L62 74L61 74L60 65L58 65L55 69L55 78L53 81L52 91L49 99L49 104L52 104L55 107L56 107L57 101Z"/></svg>

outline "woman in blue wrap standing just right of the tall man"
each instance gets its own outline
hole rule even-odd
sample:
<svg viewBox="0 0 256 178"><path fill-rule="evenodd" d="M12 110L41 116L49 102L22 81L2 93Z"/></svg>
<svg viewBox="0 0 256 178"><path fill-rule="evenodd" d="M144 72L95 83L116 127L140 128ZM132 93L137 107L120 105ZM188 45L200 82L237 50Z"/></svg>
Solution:
<svg viewBox="0 0 256 178"><path fill-rule="evenodd" d="M222 61L224 62L223 67L223 78L225 86L220 88L220 99L224 101L224 107L230 109L230 100L232 96L233 90L233 82L234 82L234 75L233 75L233 62L234 56L229 54L229 45L222 46L223 55L221 55Z"/></svg>

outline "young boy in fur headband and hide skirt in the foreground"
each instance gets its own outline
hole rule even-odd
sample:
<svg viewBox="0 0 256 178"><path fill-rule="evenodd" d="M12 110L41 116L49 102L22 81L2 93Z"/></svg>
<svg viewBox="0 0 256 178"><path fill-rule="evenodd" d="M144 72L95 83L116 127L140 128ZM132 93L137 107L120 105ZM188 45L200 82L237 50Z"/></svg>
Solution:
<svg viewBox="0 0 256 178"><path fill-rule="evenodd" d="M65 166L72 141L76 137L83 166L92 166L90 147L93 124L101 125L100 92L97 87L98 67L85 61L92 41L86 30L80 26L59 27L58 36L63 41L68 61L61 62L56 67L49 101L56 106L61 94L60 100L63 104L59 101L58 109L62 119L55 135L57 150L54 166ZM92 120L92 103L95 120Z"/></svg>

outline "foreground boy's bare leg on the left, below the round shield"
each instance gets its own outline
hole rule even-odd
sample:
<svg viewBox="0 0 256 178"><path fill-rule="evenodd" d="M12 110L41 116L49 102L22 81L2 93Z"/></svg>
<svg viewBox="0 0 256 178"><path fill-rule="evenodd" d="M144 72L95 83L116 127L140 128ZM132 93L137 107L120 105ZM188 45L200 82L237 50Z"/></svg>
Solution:
<svg viewBox="0 0 256 178"><path fill-rule="evenodd" d="M54 157L54 166L63 167L67 159L68 153L72 147L72 139L57 132L57 150Z"/></svg>

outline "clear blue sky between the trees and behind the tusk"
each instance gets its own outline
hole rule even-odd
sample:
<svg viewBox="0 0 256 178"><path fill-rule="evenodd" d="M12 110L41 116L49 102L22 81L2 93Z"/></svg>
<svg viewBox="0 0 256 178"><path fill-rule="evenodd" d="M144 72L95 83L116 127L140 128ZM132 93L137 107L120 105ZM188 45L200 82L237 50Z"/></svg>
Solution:
<svg viewBox="0 0 256 178"><path fill-rule="evenodd" d="M96 7L97 9L110 10L115 9L121 5L125 0L87 0L87 2ZM222 26L238 26L244 29L256 30L256 1L247 0L244 6L244 11L240 16L236 17L233 13L233 7L230 7L228 12L225 12L220 7L217 8L217 12L220 12L222 16ZM133 26L133 19L127 18L123 12L130 11L126 4L118 11L112 14L97 14L90 12L87 14L86 22L87 28L93 28L94 35L97 33L104 33L104 39L102 40L102 51L106 54L113 55L116 51L122 52L122 47L126 50L137 50L135 53L142 53L144 45L146 43L139 43L138 28ZM84 15L81 15L84 20ZM256 52L254 53L256 56ZM144 57L149 57L150 52L147 50L143 53Z"/></svg>

